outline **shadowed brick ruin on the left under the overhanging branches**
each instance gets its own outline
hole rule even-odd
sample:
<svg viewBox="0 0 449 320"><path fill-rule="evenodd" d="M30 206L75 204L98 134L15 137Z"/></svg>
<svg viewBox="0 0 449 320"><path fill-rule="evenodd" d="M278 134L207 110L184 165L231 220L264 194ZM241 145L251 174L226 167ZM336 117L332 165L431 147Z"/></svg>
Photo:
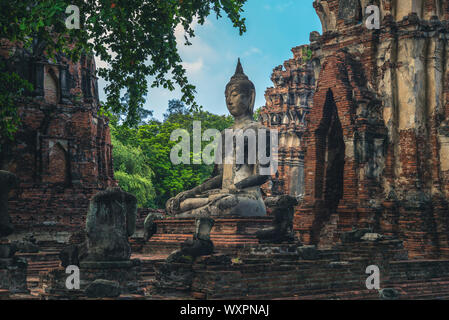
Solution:
<svg viewBox="0 0 449 320"><path fill-rule="evenodd" d="M19 179L9 197L18 237L33 232L39 239L42 231L42 241L66 241L84 225L92 195L116 185L111 138L108 120L97 115L94 59L48 59L41 47L1 42L0 57L34 91L18 102L21 125L0 160Z"/></svg>

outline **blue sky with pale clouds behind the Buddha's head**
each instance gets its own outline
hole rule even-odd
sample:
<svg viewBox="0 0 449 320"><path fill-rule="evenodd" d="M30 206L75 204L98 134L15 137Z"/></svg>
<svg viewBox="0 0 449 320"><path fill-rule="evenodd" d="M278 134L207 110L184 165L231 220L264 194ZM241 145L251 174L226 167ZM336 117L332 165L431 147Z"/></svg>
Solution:
<svg viewBox="0 0 449 320"><path fill-rule="evenodd" d="M248 0L244 9L247 32L239 36L227 17L209 16L196 25L192 46L183 45L183 32L177 30L178 46L190 82L196 86L196 101L205 110L227 114L224 89L233 75L237 58L256 86L255 108L265 104L264 93L272 86L274 67L292 58L291 48L309 43L312 31L321 33L321 24L312 0ZM100 80L104 100L104 81ZM168 101L179 99L179 90L150 89L145 108L162 118Z"/></svg>

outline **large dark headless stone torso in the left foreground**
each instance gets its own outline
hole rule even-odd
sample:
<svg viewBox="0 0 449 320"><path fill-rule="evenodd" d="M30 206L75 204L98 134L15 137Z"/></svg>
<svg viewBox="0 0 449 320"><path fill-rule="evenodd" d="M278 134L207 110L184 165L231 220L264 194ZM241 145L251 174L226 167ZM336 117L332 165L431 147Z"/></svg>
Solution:
<svg viewBox="0 0 449 320"><path fill-rule="evenodd" d="M88 261L129 260L128 243L136 228L137 200L120 188L109 188L91 200L87 214Z"/></svg>

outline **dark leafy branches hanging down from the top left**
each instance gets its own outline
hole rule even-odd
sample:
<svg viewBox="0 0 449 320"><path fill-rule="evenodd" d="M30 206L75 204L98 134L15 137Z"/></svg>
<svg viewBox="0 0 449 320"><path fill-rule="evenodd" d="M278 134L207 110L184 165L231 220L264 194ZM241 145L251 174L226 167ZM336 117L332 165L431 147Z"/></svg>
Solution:
<svg viewBox="0 0 449 320"><path fill-rule="evenodd" d="M175 29L181 26L185 43L195 36L194 19L203 25L214 13L223 13L242 34L241 17L246 0L8 0L0 1L0 39L52 56L62 52L76 61L82 52L100 57L108 68L98 73L107 81L106 108L126 114L127 124L137 124L148 86L173 90L177 84L182 101L197 107L192 86L182 66ZM80 9L81 28L65 26L68 5ZM33 54L36 54L34 52ZM153 80L148 83L148 77ZM18 90L21 91L21 90ZM128 94L123 103L123 94ZM1 95L10 92L0 91ZM18 94L19 95L19 94ZM8 117L2 121L9 121ZM14 122L11 122L14 126ZM3 134L3 133L2 133Z"/></svg>

